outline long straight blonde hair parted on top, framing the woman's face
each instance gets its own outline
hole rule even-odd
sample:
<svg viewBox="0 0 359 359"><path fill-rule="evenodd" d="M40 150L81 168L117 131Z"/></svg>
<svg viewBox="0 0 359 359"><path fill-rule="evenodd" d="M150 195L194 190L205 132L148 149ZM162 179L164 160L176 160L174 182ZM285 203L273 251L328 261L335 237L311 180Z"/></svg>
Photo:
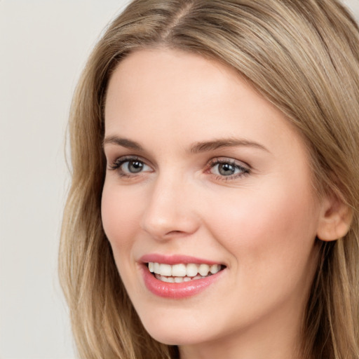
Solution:
<svg viewBox="0 0 359 359"><path fill-rule="evenodd" d="M359 358L359 31L335 0L135 0L109 25L74 95L72 187L60 280L81 358L176 358L133 309L101 222L104 97L131 51L165 46L233 67L304 137L318 194L353 212L344 238L321 242L303 324L303 358Z"/></svg>

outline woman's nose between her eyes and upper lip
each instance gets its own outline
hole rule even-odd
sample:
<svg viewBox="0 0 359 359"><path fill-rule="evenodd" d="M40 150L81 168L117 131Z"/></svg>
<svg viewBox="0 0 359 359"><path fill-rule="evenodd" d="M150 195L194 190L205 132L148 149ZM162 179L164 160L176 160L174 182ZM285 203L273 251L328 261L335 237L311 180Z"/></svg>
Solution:
<svg viewBox="0 0 359 359"><path fill-rule="evenodd" d="M195 233L200 221L194 188L181 179L164 175L152 185L142 215L142 229L156 240Z"/></svg>

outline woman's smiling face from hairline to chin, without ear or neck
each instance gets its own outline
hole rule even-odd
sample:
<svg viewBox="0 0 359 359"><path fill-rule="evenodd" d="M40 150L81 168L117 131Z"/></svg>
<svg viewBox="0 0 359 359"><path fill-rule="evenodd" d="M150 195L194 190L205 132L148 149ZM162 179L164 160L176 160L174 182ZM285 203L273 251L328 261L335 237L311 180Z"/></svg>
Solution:
<svg viewBox="0 0 359 359"><path fill-rule="evenodd" d="M104 152L104 231L152 337L296 340L320 205L278 109L219 62L138 50L109 82Z"/></svg>

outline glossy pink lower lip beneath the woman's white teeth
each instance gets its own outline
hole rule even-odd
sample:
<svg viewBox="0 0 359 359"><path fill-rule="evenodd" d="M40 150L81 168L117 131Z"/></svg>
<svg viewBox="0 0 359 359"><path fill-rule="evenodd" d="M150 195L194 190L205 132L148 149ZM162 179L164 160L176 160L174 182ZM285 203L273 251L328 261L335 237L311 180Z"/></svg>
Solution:
<svg viewBox="0 0 359 359"><path fill-rule="evenodd" d="M162 280L158 280L147 268L142 266L142 276L144 278L144 284L147 289L156 294L158 297L182 299L194 296L205 288L209 287L221 276L222 271L219 271L212 276L208 276L201 279L190 280L189 282L182 283L167 283Z"/></svg>

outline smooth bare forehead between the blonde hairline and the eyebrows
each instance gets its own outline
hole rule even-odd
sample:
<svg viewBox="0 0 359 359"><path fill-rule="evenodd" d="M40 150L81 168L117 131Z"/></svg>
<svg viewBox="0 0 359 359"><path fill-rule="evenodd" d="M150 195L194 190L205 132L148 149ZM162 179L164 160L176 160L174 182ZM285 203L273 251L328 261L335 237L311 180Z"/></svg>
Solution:
<svg viewBox="0 0 359 359"><path fill-rule="evenodd" d="M105 130L168 146L234 136L267 148L290 146L293 136L300 142L282 112L235 69L168 49L137 50L120 62L109 81Z"/></svg>

